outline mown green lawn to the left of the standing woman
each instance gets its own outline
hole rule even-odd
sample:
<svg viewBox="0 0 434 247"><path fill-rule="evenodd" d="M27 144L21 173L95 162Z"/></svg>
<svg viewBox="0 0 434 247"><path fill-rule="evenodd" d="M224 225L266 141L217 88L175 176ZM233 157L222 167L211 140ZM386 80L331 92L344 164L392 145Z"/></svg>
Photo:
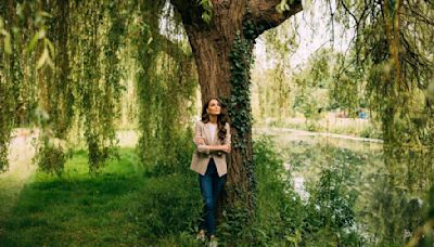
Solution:
<svg viewBox="0 0 434 247"><path fill-rule="evenodd" d="M87 154L76 153L63 178L37 172L23 187L0 219L0 246L194 245L196 177L143 174L133 150L98 176L88 173Z"/></svg>

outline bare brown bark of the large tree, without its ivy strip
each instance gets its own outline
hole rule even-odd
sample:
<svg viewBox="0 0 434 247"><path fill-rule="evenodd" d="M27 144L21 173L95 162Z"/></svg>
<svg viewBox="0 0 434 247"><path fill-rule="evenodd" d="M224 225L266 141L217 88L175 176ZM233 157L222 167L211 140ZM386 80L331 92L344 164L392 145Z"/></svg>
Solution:
<svg viewBox="0 0 434 247"><path fill-rule="evenodd" d="M202 103L209 98L220 98L225 103L231 99L231 53L234 39L240 35L241 39L254 41L265 30L280 25L283 21L302 11L301 1L294 1L291 10L279 13L276 5L280 0L212 0L213 16L210 23L202 20L203 10L196 1L171 0L171 4L180 15L186 28L192 53L196 63L199 82L201 86ZM245 22L254 25L254 34L243 34ZM253 46L250 47L253 49ZM251 53L250 53L251 54ZM248 108L248 114L250 112ZM227 115L229 117L229 114ZM229 122L231 119L229 117ZM239 129L231 125L232 143L237 142ZM246 164L253 161L252 129L245 131L246 146L234 147L228 160L227 198L230 205L239 199L246 199L251 204L253 187ZM240 198L241 194L246 197Z"/></svg>

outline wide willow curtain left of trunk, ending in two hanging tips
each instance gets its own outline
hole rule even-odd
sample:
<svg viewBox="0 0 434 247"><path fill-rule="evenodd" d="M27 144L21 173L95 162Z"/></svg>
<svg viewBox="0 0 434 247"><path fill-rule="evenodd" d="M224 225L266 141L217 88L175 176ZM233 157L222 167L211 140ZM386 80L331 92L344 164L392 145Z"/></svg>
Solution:
<svg viewBox="0 0 434 247"><path fill-rule="evenodd" d="M40 69L40 86L43 86L40 89L44 88L39 90L40 105L48 119L39 122L36 160L42 170L62 173L66 160L65 138L76 107L80 121L84 120L89 170L95 172L116 155L114 119L118 113L115 105L122 92L116 52L123 39L123 22L114 11L114 2L56 1L52 4L44 8L53 15L48 32L58 52L54 68Z"/></svg>

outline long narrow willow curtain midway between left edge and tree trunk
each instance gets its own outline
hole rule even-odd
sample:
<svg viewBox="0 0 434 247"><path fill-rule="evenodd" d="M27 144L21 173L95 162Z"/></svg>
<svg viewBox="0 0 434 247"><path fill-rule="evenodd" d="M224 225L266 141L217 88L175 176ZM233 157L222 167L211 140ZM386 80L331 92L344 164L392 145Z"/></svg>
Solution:
<svg viewBox="0 0 434 247"><path fill-rule="evenodd" d="M77 36L73 49L75 93L84 119L89 168L95 172L117 155L114 121L119 115L116 104L123 90L117 51L125 29L119 13L125 12L119 1L76 2L72 9L77 12L72 27Z"/></svg>

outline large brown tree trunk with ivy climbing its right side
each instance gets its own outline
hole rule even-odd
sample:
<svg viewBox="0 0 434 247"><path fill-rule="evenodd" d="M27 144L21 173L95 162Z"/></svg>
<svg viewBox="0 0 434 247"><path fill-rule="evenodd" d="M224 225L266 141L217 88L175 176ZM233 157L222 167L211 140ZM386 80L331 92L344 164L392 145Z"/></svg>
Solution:
<svg viewBox="0 0 434 247"><path fill-rule="evenodd" d="M291 2L291 3L290 3ZM302 11L281 0L170 0L182 20L196 63L202 102L218 96L229 106L232 152L228 200L252 206L254 188L248 65L255 38Z"/></svg>

